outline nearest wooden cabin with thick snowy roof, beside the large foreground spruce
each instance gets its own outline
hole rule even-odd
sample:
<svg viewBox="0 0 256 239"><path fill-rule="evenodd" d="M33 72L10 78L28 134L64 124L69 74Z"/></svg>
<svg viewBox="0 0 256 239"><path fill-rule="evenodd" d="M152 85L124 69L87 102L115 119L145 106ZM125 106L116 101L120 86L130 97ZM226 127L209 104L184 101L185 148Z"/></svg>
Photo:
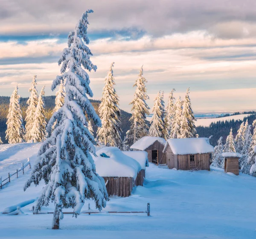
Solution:
<svg viewBox="0 0 256 239"><path fill-rule="evenodd" d="M130 196L135 186L143 186L145 167L119 148L105 147L96 151L96 155L93 156L96 173L105 180L108 196ZM147 157L145 165L146 161Z"/></svg>

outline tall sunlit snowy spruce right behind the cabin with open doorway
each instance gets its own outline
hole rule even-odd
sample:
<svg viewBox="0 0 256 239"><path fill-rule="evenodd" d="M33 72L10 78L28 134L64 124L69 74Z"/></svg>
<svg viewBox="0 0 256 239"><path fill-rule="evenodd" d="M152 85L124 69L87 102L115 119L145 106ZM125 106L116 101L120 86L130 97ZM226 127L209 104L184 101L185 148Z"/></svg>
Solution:
<svg viewBox="0 0 256 239"><path fill-rule="evenodd" d="M137 140L148 135L149 124L146 116L149 114L149 107L146 100L149 99L147 95L147 88L145 86L147 80L143 77L143 66L140 68L140 74L135 81L133 87L136 86L134 99L130 102L132 116L130 118L131 128L126 132L124 143L130 147Z"/></svg>

